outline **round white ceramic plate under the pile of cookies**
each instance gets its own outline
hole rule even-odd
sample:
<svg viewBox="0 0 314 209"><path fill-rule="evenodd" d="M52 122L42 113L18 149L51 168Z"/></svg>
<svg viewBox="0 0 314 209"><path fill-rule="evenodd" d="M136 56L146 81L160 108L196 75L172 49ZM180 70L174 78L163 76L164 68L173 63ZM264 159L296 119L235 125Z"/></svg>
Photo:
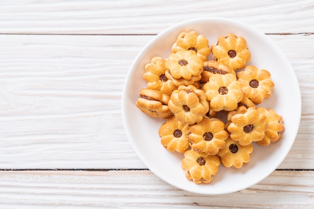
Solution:
<svg viewBox="0 0 314 209"><path fill-rule="evenodd" d="M169 152L160 142L158 130L164 120L142 113L135 101L141 88L144 66L154 56L168 58L171 46L181 32L197 31L217 42L218 36L233 33L246 39L251 52L247 65L266 69L271 73L275 87L272 96L259 106L273 108L283 116L285 130L277 143L267 147L254 144L250 162L241 169L220 165L218 174L209 184L195 184L185 177L181 168L182 153ZM209 59L211 59L209 57ZM138 54L125 80L122 94L122 116L128 139L142 162L166 182L195 193L223 194L252 186L267 177L283 161L296 137L301 115L301 96L294 71L280 49L263 33L243 23L223 18L202 18L170 27L155 36Z"/></svg>

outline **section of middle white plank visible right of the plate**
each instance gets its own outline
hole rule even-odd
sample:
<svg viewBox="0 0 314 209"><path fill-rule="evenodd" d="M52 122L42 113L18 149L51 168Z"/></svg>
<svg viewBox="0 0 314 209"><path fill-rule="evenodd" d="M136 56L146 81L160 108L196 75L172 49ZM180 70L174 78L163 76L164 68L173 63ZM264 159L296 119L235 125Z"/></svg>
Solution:
<svg viewBox="0 0 314 209"><path fill-rule="evenodd" d="M308 160L313 157L311 150L314 149L314 143L312 142L311 136L314 132L314 126L312 126L310 122L314 118L312 107L312 103L314 102L314 93L312 91L314 83L314 77L312 74L314 69L312 64L313 56L310 55L309 58L302 58L305 54L311 54L311 47L308 47L307 45L312 45L310 42L313 42L314 37L306 34L297 36L301 39L304 38L304 40L306 39L309 41L307 43L301 43L298 41L294 42L292 40L292 37L294 36L282 35L269 37L280 47L287 59L290 61L298 79L302 97L302 113L298 134L289 154L281 163L279 168L314 168L314 165ZM291 45L287 46L287 44ZM292 99L291 102L293 102ZM309 147L308 149L306 148L306 150L302 148L307 146Z"/></svg>

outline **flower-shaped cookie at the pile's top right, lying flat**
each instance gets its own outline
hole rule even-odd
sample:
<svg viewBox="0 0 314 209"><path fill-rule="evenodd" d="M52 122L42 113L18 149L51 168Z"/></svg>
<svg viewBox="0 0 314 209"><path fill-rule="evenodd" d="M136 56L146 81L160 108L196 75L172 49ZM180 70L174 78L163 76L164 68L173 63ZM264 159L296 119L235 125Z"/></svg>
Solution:
<svg viewBox="0 0 314 209"><path fill-rule="evenodd" d="M217 44L212 45L211 50L215 60L229 65L234 71L244 68L251 59L246 40L233 34L218 37Z"/></svg>

